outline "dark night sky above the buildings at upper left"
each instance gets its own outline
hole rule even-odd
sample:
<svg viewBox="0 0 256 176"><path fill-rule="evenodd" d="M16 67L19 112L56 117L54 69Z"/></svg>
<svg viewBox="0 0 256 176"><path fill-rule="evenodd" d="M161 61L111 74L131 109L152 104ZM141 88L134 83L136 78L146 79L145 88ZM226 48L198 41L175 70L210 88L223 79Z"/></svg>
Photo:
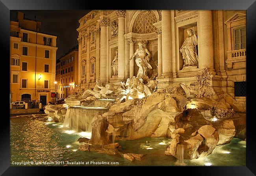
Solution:
<svg viewBox="0 0 256 176"><path fill-rule="evenodd" d="M50 11L50 10L26 10L20 11L24 13L24 17L28 19L42 21L42 32L58 35L56 59L64 55L73 48L77 42L79 27L78 20L91 10L77 11ZM16 18L16 11L10 11L10 18Z"/></svg>

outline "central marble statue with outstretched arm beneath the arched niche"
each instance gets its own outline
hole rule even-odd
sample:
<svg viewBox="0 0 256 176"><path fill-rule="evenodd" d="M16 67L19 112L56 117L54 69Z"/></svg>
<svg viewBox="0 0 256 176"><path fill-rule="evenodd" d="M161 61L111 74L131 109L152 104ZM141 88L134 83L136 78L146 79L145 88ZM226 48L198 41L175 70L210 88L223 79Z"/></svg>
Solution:
<svg viewBox="0 0 256 176"><path fill-rule="evenodd" d="M141 78L147 76L148 68L152 69L152 66L149 64L149 57L151 54L147 48L144 48L143 42L139 42L138 45L139 48L135 51L130 60L132 60L135 55L137 55L137 58L135 59L135 62L139 67L139 70L137 72L137 78Z"/></svg>

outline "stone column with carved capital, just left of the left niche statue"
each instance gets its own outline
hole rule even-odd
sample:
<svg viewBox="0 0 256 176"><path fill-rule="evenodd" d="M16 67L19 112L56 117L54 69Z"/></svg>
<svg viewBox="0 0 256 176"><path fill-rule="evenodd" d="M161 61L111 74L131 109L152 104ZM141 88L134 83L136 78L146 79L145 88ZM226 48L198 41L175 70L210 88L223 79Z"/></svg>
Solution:
<svg viewBox="0 0 256 176"><path fill-rule="evenodd" d="M100 25L100 81L102 83L107 80L107 26L110 20L106 17L98 20Z"/></svg>

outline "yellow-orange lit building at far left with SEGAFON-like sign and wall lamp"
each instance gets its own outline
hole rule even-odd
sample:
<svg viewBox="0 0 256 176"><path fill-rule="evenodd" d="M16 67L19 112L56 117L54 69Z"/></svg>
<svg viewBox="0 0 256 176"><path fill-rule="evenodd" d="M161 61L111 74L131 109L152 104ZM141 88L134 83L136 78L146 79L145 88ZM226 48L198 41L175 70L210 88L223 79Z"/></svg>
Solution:
<svg viewBox="0 0 256 176"><path fill-rule="evenodd" d="M10 102L52 101L58 37L41 28L42 22L20 12L10 22Z"/></svg>

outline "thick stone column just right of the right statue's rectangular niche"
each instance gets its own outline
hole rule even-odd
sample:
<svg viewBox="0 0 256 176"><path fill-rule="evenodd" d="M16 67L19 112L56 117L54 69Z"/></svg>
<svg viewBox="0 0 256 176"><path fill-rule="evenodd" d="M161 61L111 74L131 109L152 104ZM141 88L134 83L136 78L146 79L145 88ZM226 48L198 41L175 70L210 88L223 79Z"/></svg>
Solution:
<svg viewBox="0 0 256 176"><path fill-rule="evenodd" d="M198 11L198 68L213 71L213 33L211 10Z"/></svg>

